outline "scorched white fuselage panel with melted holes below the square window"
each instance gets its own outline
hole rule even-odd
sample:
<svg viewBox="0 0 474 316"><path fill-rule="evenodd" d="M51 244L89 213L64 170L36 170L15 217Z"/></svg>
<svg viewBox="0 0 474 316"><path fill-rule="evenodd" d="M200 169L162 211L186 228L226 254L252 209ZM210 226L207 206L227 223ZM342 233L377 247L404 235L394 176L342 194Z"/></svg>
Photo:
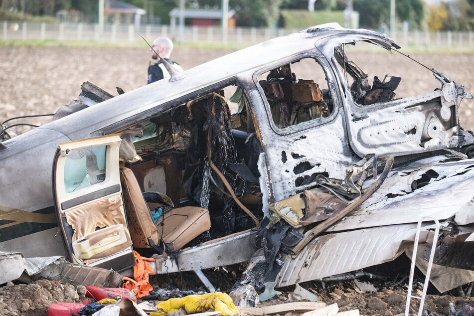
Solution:
<svg viewBox="0 0 474 316"><path fill-rule="evenodd" d="M343 126L341 115L318 128L290 135L278 135L270 126L260 125L269 177L272 179L274 200L270 203L295 195L297 189L314 185L318 174L338 179L345 177L345 170L356 160L344 141ZM318 144L317 150L312 144ZM286 159L282 159L283 152ZM302 163L306 167L298 169Z"/></svg>

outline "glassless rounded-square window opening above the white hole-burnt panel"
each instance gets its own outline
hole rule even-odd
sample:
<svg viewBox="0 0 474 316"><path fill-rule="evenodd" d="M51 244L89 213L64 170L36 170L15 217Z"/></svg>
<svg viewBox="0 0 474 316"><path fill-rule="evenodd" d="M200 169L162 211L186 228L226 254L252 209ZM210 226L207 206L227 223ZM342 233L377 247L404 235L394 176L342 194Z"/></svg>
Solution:
<svg viewBox="0 0 474 316"><path fill-rule="evenodd" d="M258 77L275 125L284 129L328 117L333 98L322 66L315 58L303 58Z"/></svg>

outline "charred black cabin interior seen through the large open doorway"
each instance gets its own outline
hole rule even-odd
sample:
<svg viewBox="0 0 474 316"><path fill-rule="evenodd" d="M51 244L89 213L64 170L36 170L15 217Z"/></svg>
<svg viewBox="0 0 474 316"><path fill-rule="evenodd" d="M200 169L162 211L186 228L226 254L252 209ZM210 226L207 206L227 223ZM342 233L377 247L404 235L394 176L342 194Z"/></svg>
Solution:
<svg viewBox="0 0 474 316"><path fill-rule="evenodd" d="M235 114L228 103L236 104ZM146 197L158 234L160 216L166 220L168 209L190 206L207 209L211 225L186 246L258 225L261 147L247 124L247 104L241 88L231 85L142 123L144 137L134 139L134 146L143 161L129 166L142 192L165 193L172 202Z"/></svg>

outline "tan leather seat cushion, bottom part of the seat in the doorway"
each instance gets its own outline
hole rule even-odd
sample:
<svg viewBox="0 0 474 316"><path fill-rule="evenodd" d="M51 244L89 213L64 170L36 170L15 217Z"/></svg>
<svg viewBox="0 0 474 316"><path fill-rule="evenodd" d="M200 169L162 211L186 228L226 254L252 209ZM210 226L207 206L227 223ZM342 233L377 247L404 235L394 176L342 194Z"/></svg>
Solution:
<svg viewBox="0 0 474 316"><path fill-rule="evenodd" d="M211 228L209 211L202 207L185 206L164 212L158 221L158 235L173 251Z"/></svg>

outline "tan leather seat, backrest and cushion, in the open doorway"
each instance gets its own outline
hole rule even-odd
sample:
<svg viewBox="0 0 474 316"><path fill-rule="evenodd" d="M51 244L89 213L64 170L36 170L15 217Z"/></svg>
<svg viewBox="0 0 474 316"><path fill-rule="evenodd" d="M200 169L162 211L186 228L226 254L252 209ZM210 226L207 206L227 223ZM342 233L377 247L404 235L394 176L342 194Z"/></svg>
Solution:
<svg viewBox="0 0 474 316"><path fill-rule="evenodd" d="M166 211L159 218L157 228L133 171L120 167L120 180L134 247L154 248L161 238L169 250L178 250L210 229L209 211L192 206Z"/></svg>

